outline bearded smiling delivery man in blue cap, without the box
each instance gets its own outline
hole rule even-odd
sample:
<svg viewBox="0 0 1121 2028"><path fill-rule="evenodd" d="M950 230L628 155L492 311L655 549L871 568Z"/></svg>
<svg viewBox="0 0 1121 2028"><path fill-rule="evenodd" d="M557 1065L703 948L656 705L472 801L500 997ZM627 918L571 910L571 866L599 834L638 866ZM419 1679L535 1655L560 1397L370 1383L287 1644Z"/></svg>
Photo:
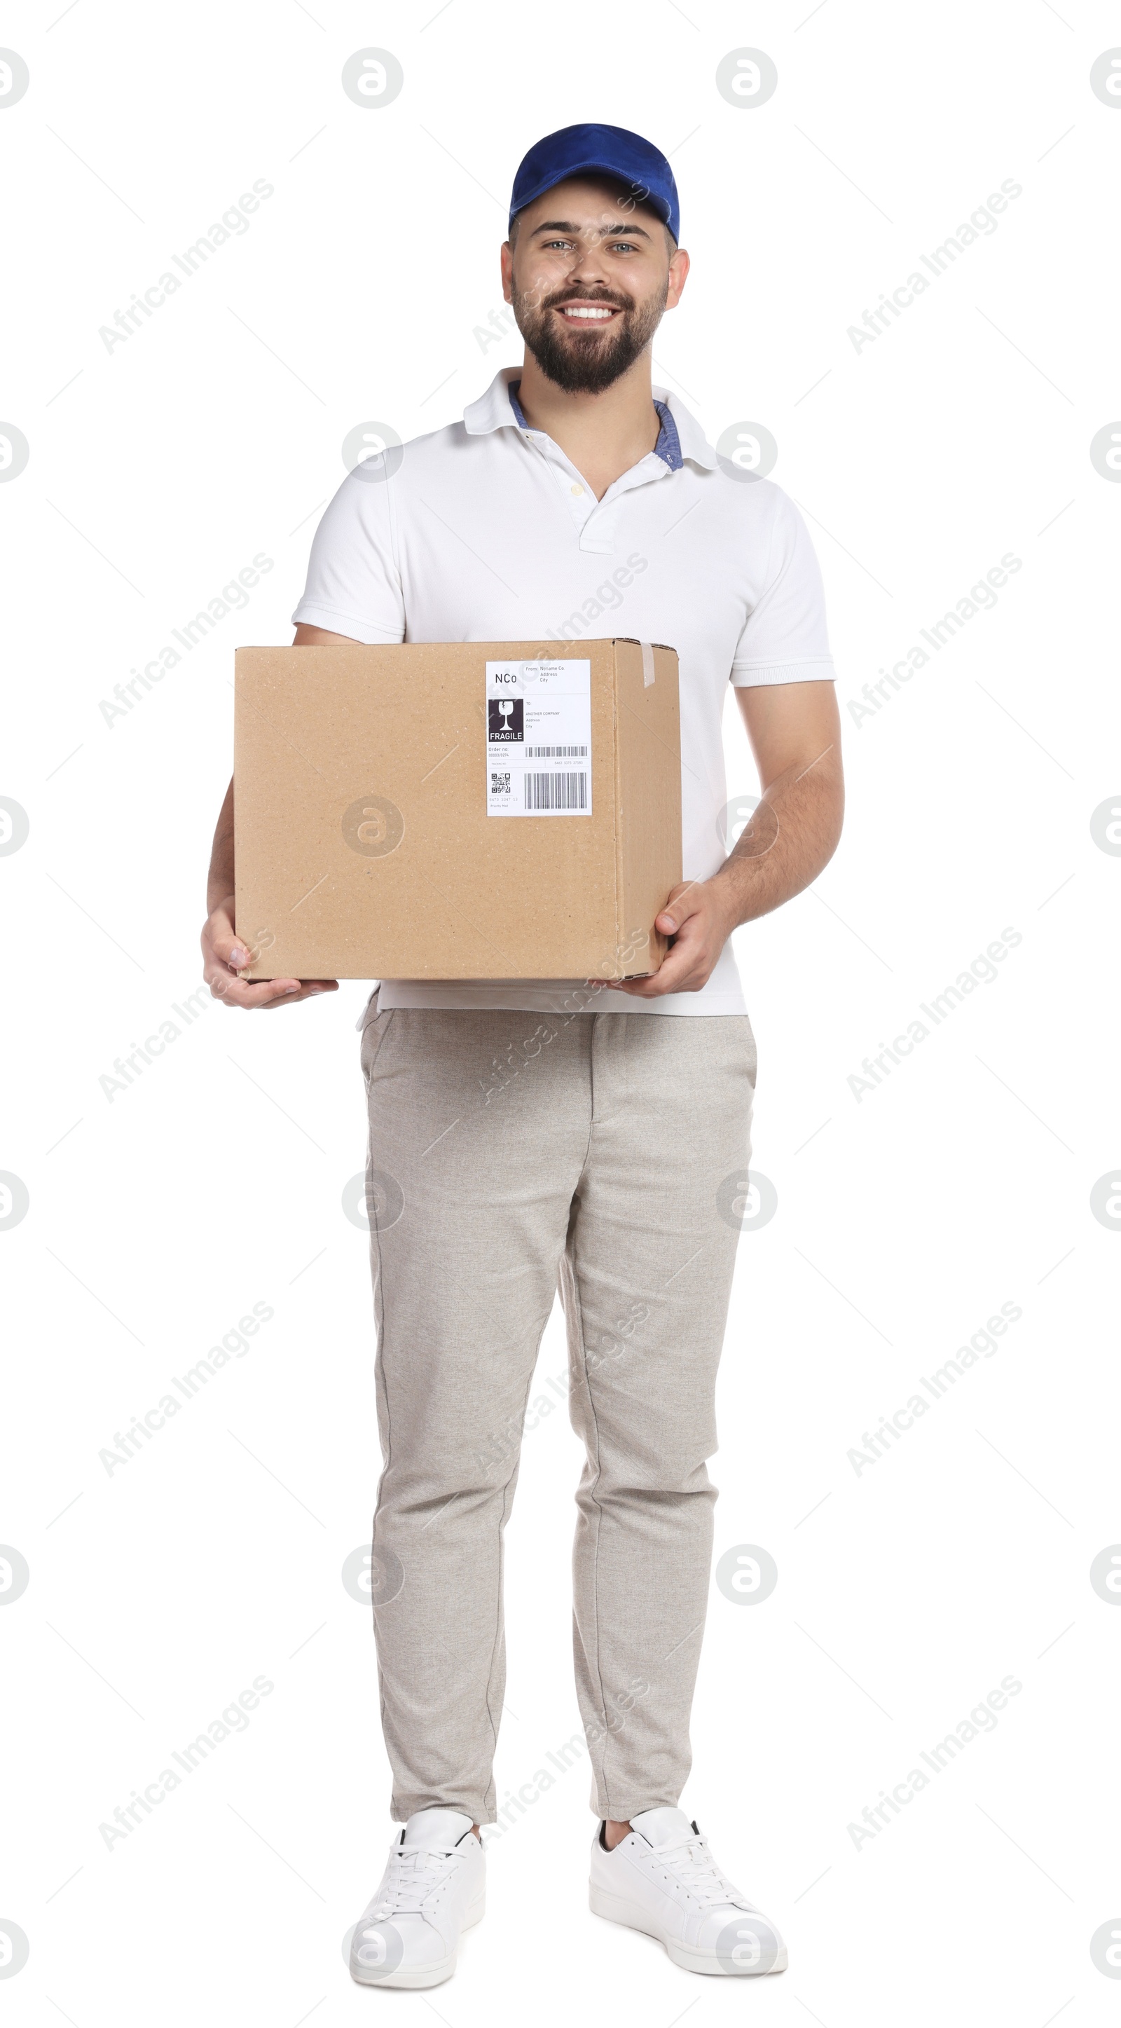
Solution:
<svg viewBox="0 0 1121 2028"><path fill-rule="evenodd" d="M681 669L685 880L649 977L383 980L363 1016L381 1474L381 1720L403 1825L357 1925L359 1981L436 1985L482 1914L503 1710L503 1527L562 1288L586 1444L574 1651L592 1758L592 1908L701 1973L784 1945L679 1809L712 1560L714 1387L736 1257L718 1190L748 1162L756 1057L728 937L827 864L839 720L805 525L722 464L651 341L689 256L657 148L574 126L515 178L503 290L525 361L462 424L367 460L312 546L296 645L667 641ZM602 617L600 617L602 614ZM726 856L728 679L762 801ZM233 783L205 975L229 1006L330 980L239 977ZM385 1182L391 1180L391 1188Z"/></svg>

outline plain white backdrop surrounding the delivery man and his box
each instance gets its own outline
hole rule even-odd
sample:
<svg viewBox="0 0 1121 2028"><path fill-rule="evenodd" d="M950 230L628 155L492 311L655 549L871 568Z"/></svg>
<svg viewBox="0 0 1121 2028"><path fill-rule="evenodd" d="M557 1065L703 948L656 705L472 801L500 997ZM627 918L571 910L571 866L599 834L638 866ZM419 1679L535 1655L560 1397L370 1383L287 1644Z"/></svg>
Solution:
<svg viewBox="0 0 1121 2028"><path fill-rule="evenodd" d="M0 791L30 819L0 866L0 1166L30 1192L0 1233L0 1537L30 1570L0 1618L0 1916L30 1945L10 2020L1113 2022L1091 1937L1121 1929L1121 1610L1089 1566L1121 1537L1121 1241L1091 1190L1121 1152L1121 866L1091 815L1121 801L1121 489L1089 444L1121 414L1121 103L1089 71L1117 10L53 0L10 6L0 39L30 67L0 110L0 412L30 444L0 485ZM716 89L746 45L776 63L766 105ZM403 67L391 105L341 89L363 47ZM709 440L774 434L841 706L1001 554L1022 570L874 718L843 710L841 850L738 933L778 1209L740 1243L718 1553L758 1543L778 1584L746 1608L714 1584L683 1801L791 1971L695 1979L592 1918L574 1768L495 1839L454 1981L379 1998L341 1955L389 1839L369 1608L341 1582L379 1468L367 1243L341 1209L365 988L268 1020L209 1006L124 1093L99 1079L199 982L233 647L290 639L345 434L436 428L517 361L476 335L505 201L574 120L673 152L693 274L655 379ZM274 195L249 229L109 353L99 327L255 178ZM1022 195L999 227L857 353L847 327L1003 178ZM114 685L257 552L251 604L105 724ZM754 791L732 710L728 750L730 793ZM862 1059L1005 927L999 977L857 1101ZM249 1353L107 1476L114 1432L253 1302L276 1316ZM1024 1314L999 1351L857 1476L849 1448L1003 1302ZM553 1318L541 1375L562 1369ZM507 1537L503 1795L578 1728L576 1476L557 1409ZM247 1730L107 1850L99 1825L255 1675L274 1691ZM1005 1675L997 1728L855 1845L847 1825Z"/></svg>

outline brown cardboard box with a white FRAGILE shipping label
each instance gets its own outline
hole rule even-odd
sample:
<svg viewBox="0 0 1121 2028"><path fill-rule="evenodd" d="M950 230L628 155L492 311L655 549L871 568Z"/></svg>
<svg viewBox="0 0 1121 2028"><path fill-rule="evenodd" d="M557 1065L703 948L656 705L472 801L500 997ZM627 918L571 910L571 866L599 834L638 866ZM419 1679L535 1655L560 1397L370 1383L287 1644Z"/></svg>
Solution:
<svg viewBox="0 0 1121 2028"><path fill-rule="evenodd" d="M657 969L681 880L677 653L639 641L243 647L247 977Z"/></svg>

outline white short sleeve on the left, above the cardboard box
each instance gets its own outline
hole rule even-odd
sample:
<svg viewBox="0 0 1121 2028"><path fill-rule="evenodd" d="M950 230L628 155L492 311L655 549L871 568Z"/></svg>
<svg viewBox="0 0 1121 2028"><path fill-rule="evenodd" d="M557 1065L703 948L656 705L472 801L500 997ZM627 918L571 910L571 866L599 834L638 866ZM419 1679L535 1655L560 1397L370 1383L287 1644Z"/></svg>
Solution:
<svg viewBox="0 0 1121 2028"><path fill-rule="evenodd" d="M357 466L322 515L294 625L324 627L367 645L405 639L405 600L393 541L393 481Z"/></svg>

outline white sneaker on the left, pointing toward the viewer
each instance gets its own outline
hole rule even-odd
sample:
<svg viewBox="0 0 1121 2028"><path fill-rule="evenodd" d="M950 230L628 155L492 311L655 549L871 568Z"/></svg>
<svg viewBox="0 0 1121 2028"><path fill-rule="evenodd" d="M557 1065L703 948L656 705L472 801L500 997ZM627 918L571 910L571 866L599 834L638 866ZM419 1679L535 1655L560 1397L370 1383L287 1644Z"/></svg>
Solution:
<svg viewBox="0 0 1121 2028"><path fill-rule="evenodd" d="M377 1894L355 1927L359 1985L440 1985L456 1969L460 1931L482 1918L482 1845L462 1809L418 1809L389 1848Z"/></svg>

